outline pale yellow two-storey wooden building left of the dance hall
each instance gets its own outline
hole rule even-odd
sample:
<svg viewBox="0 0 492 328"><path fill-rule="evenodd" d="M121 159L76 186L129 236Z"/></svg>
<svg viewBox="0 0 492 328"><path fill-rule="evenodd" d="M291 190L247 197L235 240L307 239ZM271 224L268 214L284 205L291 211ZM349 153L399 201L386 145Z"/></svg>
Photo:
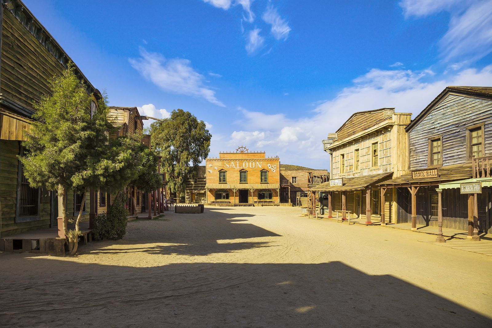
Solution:
<svg viewBox="0 0 492 328"><path fill-rule="evenodd" d="M320 192L320 206L329 217L335 212L343 220L350 215L366 224L396 221L396 194L381 194L377 183L407 172L410 117L394 108L358 112L323 140L330 181L310 190Z"/></svg>

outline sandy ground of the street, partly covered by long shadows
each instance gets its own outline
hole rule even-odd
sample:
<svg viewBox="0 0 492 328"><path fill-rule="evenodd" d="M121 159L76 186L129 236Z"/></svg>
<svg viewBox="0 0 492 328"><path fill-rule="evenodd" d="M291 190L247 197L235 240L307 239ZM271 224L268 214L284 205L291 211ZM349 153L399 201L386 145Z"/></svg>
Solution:
<svg viewBox="0 0 492 328"><path fill-rule="evenodd" d="M166 213L78 257L0 253L0 327L492 327L492 257L299 212Z"/></svg>

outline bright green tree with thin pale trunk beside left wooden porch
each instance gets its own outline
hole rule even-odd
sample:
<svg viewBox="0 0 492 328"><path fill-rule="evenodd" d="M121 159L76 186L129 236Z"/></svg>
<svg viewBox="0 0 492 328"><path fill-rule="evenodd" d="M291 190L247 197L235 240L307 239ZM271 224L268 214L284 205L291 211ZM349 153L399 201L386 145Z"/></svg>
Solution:
<svg viewBox="0 0 492 328"><path fill-rule="evenodd" d="M91 117L92 96L74 73L73 64L62 76L50 81L52 95L34 103L31 131L20 157L24 175L33 187L58 191L63 218L63 231L77 250L81 235L79 223L82 210L75 222L75 230L68 231L66 195L69 190L82 194L81 209L90 188L122 188L134 177L142 155L134 150L141 144L131 138L111 139L113 126L107 119L106 97L98 100L98 109Z"/></svg>

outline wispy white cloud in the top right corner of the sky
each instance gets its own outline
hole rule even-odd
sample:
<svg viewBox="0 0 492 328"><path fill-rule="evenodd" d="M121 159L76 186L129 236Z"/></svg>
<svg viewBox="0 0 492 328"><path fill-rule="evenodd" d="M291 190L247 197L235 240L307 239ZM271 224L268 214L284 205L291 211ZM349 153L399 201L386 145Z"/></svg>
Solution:
<svg viewBox="0 0 492 328"><path fill-rule="evenodd" d="M402 0L400 6L406 18L450 13L449 29L439 41L445 60L479 60L492 52L492 0Z"/></svg>

